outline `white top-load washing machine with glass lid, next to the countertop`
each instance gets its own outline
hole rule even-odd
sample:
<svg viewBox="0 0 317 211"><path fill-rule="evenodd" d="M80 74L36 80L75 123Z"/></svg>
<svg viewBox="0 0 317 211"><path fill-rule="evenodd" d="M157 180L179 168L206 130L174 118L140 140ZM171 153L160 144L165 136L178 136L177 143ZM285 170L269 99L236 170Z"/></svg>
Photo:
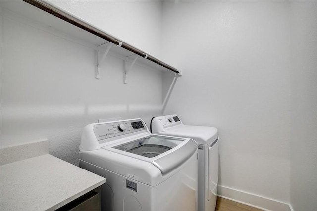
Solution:
<svg viewBox="0 0 317 211"><path fill-rule="evenodd" d="M142 119L84 127L79 166L106 178L103 211L197 211L198 144L153 135Z"/></svg>

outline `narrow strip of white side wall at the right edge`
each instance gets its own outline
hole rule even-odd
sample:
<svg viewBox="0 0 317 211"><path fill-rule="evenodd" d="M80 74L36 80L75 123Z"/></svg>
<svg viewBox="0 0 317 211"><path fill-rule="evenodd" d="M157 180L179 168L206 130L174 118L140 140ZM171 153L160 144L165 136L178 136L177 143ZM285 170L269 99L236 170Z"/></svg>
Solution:
<svg viewBox="0 0 317 211"><path fill-rule="evenodd" d="M317 1L292 1L291 205L317 210Z"/></svg>

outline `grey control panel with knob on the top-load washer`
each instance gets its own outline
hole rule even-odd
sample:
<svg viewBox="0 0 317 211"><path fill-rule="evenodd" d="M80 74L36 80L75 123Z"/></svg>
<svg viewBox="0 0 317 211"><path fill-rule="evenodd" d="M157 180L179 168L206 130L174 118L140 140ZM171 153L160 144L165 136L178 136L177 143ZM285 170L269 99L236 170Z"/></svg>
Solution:
<svg viewBox="0 0 317 211"><path fill-rule="evenodd" d="M133 132L138 132L141 130L146 130L145 123L139 120L130 121L118 121L110 122L104 124L98 124L93 127L96 139L98 141L112 138L119 135L129 134Z"/></svg>

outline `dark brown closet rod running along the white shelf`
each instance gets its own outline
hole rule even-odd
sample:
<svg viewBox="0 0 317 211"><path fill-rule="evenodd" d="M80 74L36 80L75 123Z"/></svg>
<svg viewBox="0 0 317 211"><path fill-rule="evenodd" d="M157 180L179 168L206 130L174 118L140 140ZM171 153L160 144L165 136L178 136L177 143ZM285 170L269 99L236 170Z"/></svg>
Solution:
<svg viewBox="0 0 317 211"><path fill-rule="evenodd" d="M147 54L145 52L143 52L143 51L141 51L141 50L139 50L139 49L137 49L137 48L125 43L125 42L122 42L122 41L116 39L115 37L113 37L113 36L103 32L103 31L101 31L101 30L89 25L88 23L85 23L82 20L79 20L79 19L73 17L72 15L69 15L68 13L66 13L66 12L64 12L62 10L59 10L59 9L53 7L52 5L46 3L46 2L44 2L42 0L23 0L23 1L25 1L25 2L27 2L29 4L31 4L31 5L39 8L39 9L42 9L43 11L46 11L46 12L48 12L48 13L50 13L50 14L52 14L52 15L54 15L54 16L56 16L56 17L58 17L58 18L60 18L60 19L62 19L64 21L66 21L66 22L68 22L68 23L70 23L72 25L75 25L75 26L77 26L77 27L79 27L79 28L81 28L81 29L83 29L83 30L85 30L87 32L90 32L90 33L92 33L92 34L94 34L94 35L96 35L96 36L98 36L100 38L103 38L106 41L112 42L112 43L114 43L116 45L119 45L120 42L121 42L122 43L121 47L123 47L123 48L125 48L125 49L127 49L127 50L129 50L129 51L131 51L131 52L133 52L133 53L135 53L137 55L139 55L139 56L142 56L143 58L147 57L146 59L148 59L148 60L150 60L150 61L152 61L154 63L157 63L158 65L163 66L163 67L165 67L165 68L167 68L167 69L169 69L169 70L171 70L171 71L173 71L175 73L179 73L179 71L177 71L176 68L174 68L174 67L172 67L172 66L170 66L170 65L168 65L168 64L166 64L166 63L164 63L162 61L160 61L159 59L157 59L157 58L155 58L155 57L153 57L151 55L147 56Z"/></svg>

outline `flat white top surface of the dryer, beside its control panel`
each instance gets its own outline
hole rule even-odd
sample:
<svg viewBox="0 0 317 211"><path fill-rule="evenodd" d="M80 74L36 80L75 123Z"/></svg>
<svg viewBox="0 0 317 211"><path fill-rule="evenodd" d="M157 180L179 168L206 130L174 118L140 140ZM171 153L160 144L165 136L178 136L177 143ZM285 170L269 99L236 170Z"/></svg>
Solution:
<svg viewBox="0 0 317 211"><path fill-rule="evenodd" d="M158 134L192 138L198 144L208 145L217 139L218 129L209 126L178 125L166 128L166 131Z"/></svg>

